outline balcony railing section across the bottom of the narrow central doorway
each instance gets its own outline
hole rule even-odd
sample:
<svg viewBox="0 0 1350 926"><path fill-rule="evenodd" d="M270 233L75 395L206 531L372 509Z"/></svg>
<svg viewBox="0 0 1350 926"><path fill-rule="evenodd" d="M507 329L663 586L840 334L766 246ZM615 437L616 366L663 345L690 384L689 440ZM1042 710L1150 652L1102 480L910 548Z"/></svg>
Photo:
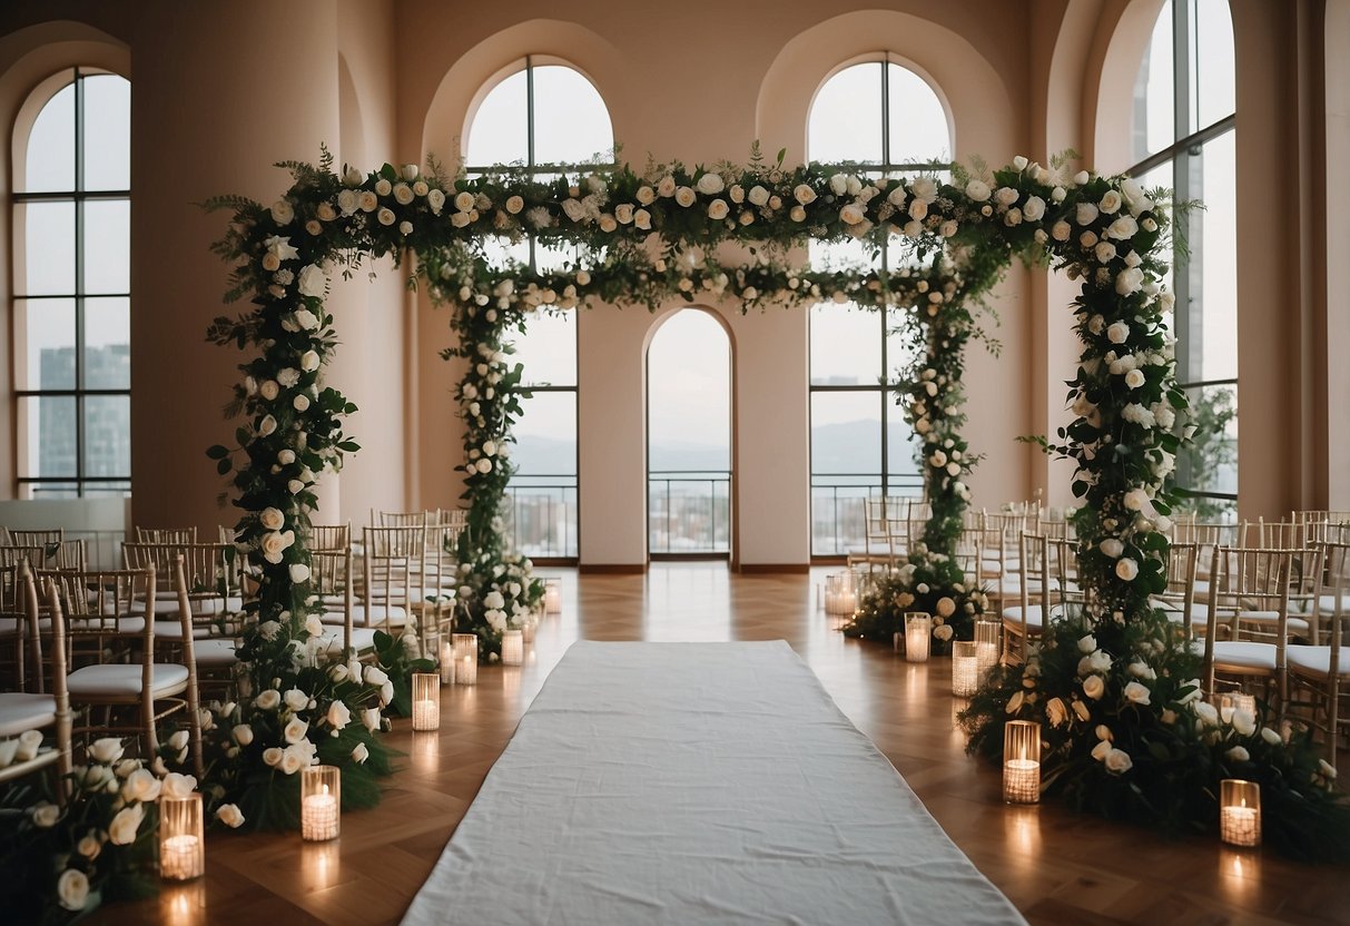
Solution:
<svg viewBox="0 0 1350 926"><path fill-rule="evenodd" d="M652 553L732 549L732 474L728 470L652 470L647 474Z"/></svg>

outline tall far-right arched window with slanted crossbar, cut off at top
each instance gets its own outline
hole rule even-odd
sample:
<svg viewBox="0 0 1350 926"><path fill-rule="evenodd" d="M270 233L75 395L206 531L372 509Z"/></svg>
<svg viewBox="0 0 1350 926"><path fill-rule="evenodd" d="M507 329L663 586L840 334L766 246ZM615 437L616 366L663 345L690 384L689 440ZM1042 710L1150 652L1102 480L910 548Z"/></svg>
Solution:
<svg viewBox="0 0 1350 926"><path fill-rule="evenodd" d="M1237 104L1227 0L1162 4L1134 88L1134 167L1204 209L1177 216L1177 379L1197 424L1177 458L1177 485L1203 518L1237 513L1238 298ZM1184 246L1183 246L1184 243Z"/></svg>

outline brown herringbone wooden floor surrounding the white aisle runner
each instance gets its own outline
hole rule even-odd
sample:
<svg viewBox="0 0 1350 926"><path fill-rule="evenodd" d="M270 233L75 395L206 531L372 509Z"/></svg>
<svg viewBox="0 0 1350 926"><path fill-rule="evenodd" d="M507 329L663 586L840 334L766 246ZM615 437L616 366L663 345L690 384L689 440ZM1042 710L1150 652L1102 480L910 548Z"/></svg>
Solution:
<svg viewBox="0 0 1350 926"><path fill-rule="evenodd" d="M390 742L408 753L405 768L379 807L343 817L340 840L212 833L205 879L109 906L93 922L398 922L572 641L786 638L1033 923L1350 923L1345 869L1234 852L1214 838L1168 841L1054 805L1004 806L998 773L963 752L949 661L909 664L845 640L817 605L819 570L741 576L725 564L682 563L645 576L552 574L563 575L564 610L540 626L526 665L483 668L475 687L443 688L437 733L414 734L400 721Z"/></svg>

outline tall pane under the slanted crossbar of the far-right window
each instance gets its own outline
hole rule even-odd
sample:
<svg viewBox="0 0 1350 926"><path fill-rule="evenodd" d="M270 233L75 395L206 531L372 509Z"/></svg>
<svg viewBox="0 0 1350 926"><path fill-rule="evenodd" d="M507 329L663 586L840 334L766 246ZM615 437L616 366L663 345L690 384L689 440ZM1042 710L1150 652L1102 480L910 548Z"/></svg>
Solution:
<svg viewBox="0 0 1350 926"><path fill-rule="evenodd" d="M1206 208L1191 213L1191 339L1200 339L1197 379L1238 375L1238 215L1235 136L1227 132L1192 158L1191 194ZM1183 162L1184 163L1184 162ZM1199 328L1195 328L1199 319Z"/></svg>

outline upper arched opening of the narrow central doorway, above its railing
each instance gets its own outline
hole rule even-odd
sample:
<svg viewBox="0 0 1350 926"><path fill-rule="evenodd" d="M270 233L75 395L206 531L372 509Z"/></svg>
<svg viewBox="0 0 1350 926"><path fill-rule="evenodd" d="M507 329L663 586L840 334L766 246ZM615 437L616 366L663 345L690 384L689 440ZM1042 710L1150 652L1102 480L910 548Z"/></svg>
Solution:
<svg viewBox="0 0 1350 926"><path fill-rule="evenodd" d="M726 471L732 466L730 342L710 315L682 309L647 352L648 467Z"/></svg>

